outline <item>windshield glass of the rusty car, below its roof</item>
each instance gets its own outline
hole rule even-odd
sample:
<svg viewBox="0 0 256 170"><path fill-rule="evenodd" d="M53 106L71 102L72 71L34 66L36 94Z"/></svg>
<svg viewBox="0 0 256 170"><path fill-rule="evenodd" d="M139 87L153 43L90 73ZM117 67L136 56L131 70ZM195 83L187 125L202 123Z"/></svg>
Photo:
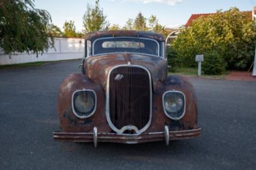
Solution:
<svg viewBox="0 0 256 170"><path fill-rule="evenodd" d="M99 38L94 41L93 55L104 53L144 53L159 56L159 43L148 38Z"/></svg>

